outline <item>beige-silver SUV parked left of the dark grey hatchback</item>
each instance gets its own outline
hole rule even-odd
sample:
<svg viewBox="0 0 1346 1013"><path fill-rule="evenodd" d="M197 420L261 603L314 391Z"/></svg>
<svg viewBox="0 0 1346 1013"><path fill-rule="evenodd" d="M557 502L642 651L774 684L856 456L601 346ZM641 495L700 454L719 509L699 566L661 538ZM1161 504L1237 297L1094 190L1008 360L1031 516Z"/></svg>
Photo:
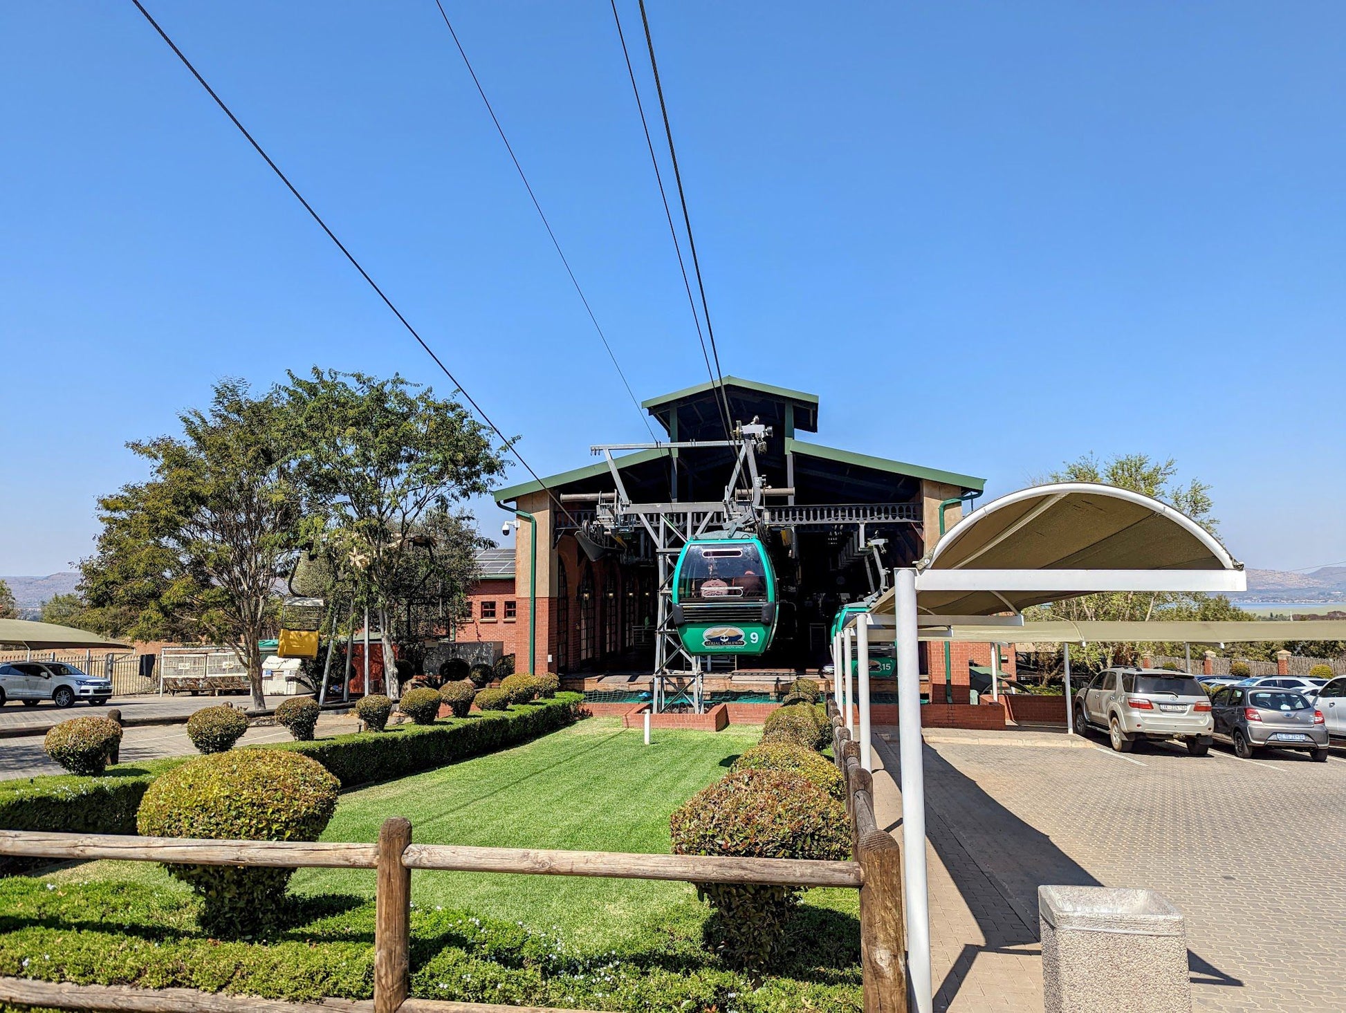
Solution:
<svg viewBox="0 0 1346 1013"><path fill-rule="evenodd" d="M1112 748L1140 739L1180 739L1193 756L1210 751L1210 697L1191 675L1164 669L1104 669L1075 694L1075 728L1098 728Z"/></svg>

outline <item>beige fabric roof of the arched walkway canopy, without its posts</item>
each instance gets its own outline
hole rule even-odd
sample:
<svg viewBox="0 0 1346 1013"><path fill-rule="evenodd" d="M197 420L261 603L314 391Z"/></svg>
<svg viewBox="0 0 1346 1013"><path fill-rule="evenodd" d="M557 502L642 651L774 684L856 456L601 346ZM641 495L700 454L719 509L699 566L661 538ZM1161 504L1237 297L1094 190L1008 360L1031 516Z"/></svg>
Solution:
<svg viewBox="0 0 1346 1013"><path fill-rule="evenodd" d="M1062 482L1011 492L968 514L918 570L931 577L958 570L1004 577L1030 570L1242 570L1242 564L1201 525L1158 499L1113 486ZM933 583L950 581L918 577L917 608L926 615L1019 612L1090 593L1088 588L1016 589L1012 580L1003 580L1001 587L983 583L938 591L929 588ZM891 613L892 603L888 591L874 612Z"/></svg>

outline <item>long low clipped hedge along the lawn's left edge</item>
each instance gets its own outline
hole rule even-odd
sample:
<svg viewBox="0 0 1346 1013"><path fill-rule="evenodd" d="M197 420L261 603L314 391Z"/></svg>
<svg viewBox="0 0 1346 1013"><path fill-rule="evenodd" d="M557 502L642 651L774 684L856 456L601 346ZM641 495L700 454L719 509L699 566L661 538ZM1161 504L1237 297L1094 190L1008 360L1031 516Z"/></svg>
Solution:
<svg viewBox="0 0 1346 1013"><path fill-rule="evenodd" d="M343 788L350 788L420 774L565 728L579 720L583 700L579 693L561 693L556 700L525 704L506 713L447 718L432 725L397 725L384 735L355 733L256 748L311 756L331 771Z"/></svg>

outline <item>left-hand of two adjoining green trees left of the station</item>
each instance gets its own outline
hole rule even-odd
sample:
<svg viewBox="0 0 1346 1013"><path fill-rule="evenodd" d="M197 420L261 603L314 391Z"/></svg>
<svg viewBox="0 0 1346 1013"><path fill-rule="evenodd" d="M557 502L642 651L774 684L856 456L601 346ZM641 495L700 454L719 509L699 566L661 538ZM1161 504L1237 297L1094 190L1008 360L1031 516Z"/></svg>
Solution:
<svg viewBox="0 0 1346 1013"><path fill-rule="evenodd" d="M215 385L210 408L179 416L182 436L128 447L152 478L98 500L102 531L81 591L131 635L230 647L261 693L257 642L275 628L276 580L300 543L303 487L283 400Z"/></svg>

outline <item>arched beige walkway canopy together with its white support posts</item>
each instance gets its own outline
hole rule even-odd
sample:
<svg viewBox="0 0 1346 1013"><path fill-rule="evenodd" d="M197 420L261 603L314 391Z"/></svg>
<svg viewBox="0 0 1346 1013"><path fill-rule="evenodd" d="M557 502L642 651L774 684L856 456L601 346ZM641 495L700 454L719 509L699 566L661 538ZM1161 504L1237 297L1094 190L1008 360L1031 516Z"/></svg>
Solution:
<svg viewBox="0 0 1346 1013"><path fill-rule="evenodd" d="M1244 591L1242 564L1174 507L1128 490L1069 482L1011 492L962 518L914 569L894 572L891 591L855 631L860 751L870 767L868 631L896 635L907 966L919 1013L931 1013L930 908L926 884L925 772L921 753L921 626L1015 623L1028 605L1105 591ZM1010 613L1003 616L1003 613ZM997 619L991 619L996 616ZM997 622L999 620L999 622ZM852 634L837 636L849 640ZM1008 639L1008 638L1007 638ZM840 651L841 644L836 648ZM849 697L849 648L833 659L835 690ZM847 717L849 722L849 706Z"/></svg>

